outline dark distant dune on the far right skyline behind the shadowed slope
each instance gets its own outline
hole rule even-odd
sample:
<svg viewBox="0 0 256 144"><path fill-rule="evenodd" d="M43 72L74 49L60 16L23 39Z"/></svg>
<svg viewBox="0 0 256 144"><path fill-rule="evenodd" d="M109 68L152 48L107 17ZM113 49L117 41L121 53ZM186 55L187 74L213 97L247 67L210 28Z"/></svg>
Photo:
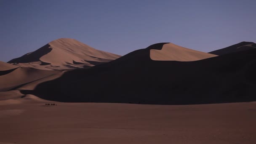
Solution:
<svg viewBox="0 0 256 144"><path fill-rule="evenodd" d="M219 49L216 51L211 51L209 53L221 56L221 55L224 55L227 53L246 51L246 50L250 50L250 49L254 49L254 48L256 48L256 44L253 42L241 42L241 43L237 43L235 45L231 45L227 48L222 48L222 49Z"/></svg>

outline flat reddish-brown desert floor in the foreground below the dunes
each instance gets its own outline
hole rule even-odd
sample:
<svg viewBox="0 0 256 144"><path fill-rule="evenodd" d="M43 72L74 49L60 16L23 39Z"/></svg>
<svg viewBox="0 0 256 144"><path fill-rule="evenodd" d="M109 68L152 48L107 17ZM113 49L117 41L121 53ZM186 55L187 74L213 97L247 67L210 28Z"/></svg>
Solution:
<svg viewBox="0 0 256 144"><path fill-rule="evenodd" d="M256 102L0 105L0 144L255 144Z"/></svg>

